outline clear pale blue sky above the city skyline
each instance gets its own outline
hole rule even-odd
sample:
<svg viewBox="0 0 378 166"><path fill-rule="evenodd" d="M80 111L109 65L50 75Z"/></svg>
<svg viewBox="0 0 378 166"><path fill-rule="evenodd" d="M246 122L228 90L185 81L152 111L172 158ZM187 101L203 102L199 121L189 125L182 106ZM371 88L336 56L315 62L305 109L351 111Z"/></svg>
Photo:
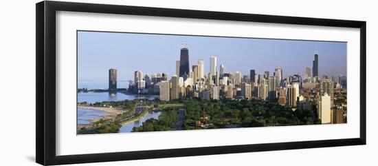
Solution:
<svg viewBox="0 0 378 166"><path fill-rule="evenodd" d="M210 71L210 56L216 56L217 69L223 63L225 72L244 75L254 69L263 74L281 67L284 76L304 75L306 66L312 73L313 54L318 50L320 76L346 75L344 42L80 31L78 80L107 80L110 68L118 70L118 81L133 80L135 70L172 76L183 41L188 45L189 65L203 59L205 74Z"/></svg>

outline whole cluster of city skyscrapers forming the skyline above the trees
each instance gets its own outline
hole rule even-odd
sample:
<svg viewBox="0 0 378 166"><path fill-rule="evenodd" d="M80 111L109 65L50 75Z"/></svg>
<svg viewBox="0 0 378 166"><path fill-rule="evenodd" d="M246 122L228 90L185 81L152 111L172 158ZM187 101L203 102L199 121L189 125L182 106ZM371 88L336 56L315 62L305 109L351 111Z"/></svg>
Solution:
<svg viewBox="0 0 378 166"><path fill-rule="evenodd" d="M159 94L162 101L175 100L181 97L197 97L205 100L251 99L278 102L287 107L312 110L311 101L318 103L318 116L322 123L335 123L337 118L344 116L340 111L333 112L334 88L346 87L346 78L340 77L339 81L323 76L318 79L318 54L313 60L313 74L307 67L305 79L302 81L300 74L283 75L282 68L275 68L273 74L265 71L257 74L255 70L249 70L249 75L241 72L226 72L223 64L217 69L216 56L210 57L210 72L204 73L203 59L198 59L196 65L189 65L189 50L184 47L180 51L180 60L176 61L176 74L168 79L168 74L143 75L141 71L135 71L134 81L129 84L129 91L139 94ZM116 73L109 70L109 90L116 89ZM344 82L342 80L345 80ZM345 89L344 89L345 90ZM315 92L315 93L314 93ZM340 110L340 109L339 109ZM340 120L341 121L341 120ZM340 121L338 121L340 123Z"/></svg>

